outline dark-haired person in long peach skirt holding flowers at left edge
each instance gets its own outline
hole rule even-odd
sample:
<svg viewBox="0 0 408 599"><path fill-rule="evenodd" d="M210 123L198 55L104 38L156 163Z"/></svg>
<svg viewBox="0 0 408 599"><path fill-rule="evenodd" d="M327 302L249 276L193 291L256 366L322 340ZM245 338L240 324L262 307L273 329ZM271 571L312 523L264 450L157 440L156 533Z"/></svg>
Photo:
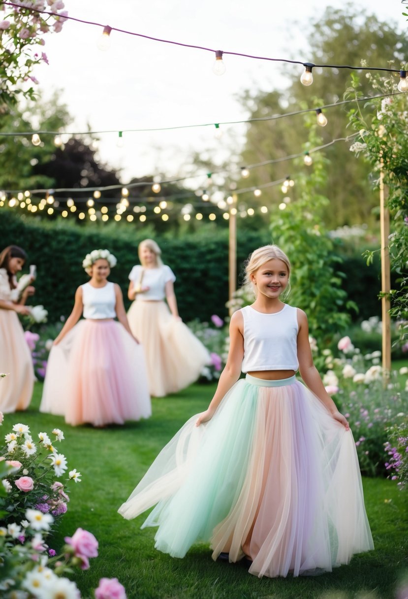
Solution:
<svg viewBox="0 0 408 599"><path fill-rule="evenodd" d="M30 313L25 303L35 291L32 285L26 286L21 294L17 289L16 274L26 259L19 246L8 246L0 253L0 372L7 374L0 380L0 411L4 413L24 410L31 401L34 386L31 352L17 316ZM28 282L32 279L28 278Z"/></svg>

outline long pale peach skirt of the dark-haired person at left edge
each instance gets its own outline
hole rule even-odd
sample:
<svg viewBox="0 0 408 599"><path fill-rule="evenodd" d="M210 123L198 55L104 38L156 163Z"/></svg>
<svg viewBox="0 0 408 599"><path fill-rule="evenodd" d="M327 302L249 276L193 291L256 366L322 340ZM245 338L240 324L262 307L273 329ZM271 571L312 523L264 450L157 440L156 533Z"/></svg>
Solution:
<svg viewBox="0 0 408 599"><path fill-rule="evenodd" d="M23 327L14 310L0 309L0 412L25 410L31 401L34 368Z"/></svg>

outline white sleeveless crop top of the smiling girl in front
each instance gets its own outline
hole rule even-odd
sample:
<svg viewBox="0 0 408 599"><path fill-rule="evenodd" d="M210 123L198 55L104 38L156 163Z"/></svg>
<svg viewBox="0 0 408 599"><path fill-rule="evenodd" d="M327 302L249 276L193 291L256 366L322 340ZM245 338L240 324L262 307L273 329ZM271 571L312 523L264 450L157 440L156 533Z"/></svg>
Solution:
<svg viewBox="0 0 408 599"><path fill-rule="evenodd" d="M242 372L294 370L297 360L297 308L285 304L281 311L264 314L250 305L243 316Z"/></svg>

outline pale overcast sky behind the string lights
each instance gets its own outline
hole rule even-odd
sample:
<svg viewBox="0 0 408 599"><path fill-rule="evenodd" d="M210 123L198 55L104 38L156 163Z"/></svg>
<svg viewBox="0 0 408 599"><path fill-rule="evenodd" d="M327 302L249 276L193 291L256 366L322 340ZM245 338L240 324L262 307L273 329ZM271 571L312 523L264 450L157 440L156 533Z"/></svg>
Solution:
<svg viewBox="0 0 408 599"><path fill-rule="evenodd" d="M305 29L333 0L64 0L71 17L126 31L212 49L313 62ZM353 7L407 27L400 0L354 0ZM193 152L205 155L226 144L213 126L155 133L118 131L242 120L244 89L284 85L279 64L225 56L226 73L214 75L214 56L196 50L112 32L110 49L97 43L102 29L68 21L59 34L45 35L50 64L36 68L45 95L62 90L74 122L68 131L114 130L99 135L102 162L121 169L126 183L145 174L176 177ZM304 49L304 50L302 50ZM334 60L334 62L336 62ZM386 59L383 65L387 66ZM299 69L299 76L303 67ZM343 90L339 90L342 95ZM234 126L242 134L242 126ZM227 128L228 129L228 128ZM226 131L227 133L227 131Z"/></svg>

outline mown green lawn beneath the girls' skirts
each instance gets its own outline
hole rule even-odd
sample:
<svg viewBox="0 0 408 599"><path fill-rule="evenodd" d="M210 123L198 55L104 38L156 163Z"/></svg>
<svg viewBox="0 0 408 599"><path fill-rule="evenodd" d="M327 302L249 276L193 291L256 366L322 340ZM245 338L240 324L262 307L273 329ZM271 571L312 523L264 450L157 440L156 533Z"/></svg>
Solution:
<svg viewBox="0 0 408 599"><path fill-rule="evenodd" d="M124 426L94 429L71 427L63 418L39 414L42 385L36 383L27 412L7 415L3 431L16 422L39 431L57 426L65 434L59 446L69 469L83 482L72 484L68 513L50 546L58 550L77 527L99 540L99 557L87 571L74 574L84 597L92 597L100 577L117 577L128 599L394 599L397 581L408 568L408 507L406 492L386 479L364 479L367 513L375 549L355 556L333 573L296 579L258 579L242 565L213 562L204 544L184 559L154 549L155 529L140 530L144 516L125 521L117 509L142 477L159 450L194 413L206 408L213 385L192 385L177 395L153 400L153 417ZM374 591L374 595L366 592Z"/></svg>

